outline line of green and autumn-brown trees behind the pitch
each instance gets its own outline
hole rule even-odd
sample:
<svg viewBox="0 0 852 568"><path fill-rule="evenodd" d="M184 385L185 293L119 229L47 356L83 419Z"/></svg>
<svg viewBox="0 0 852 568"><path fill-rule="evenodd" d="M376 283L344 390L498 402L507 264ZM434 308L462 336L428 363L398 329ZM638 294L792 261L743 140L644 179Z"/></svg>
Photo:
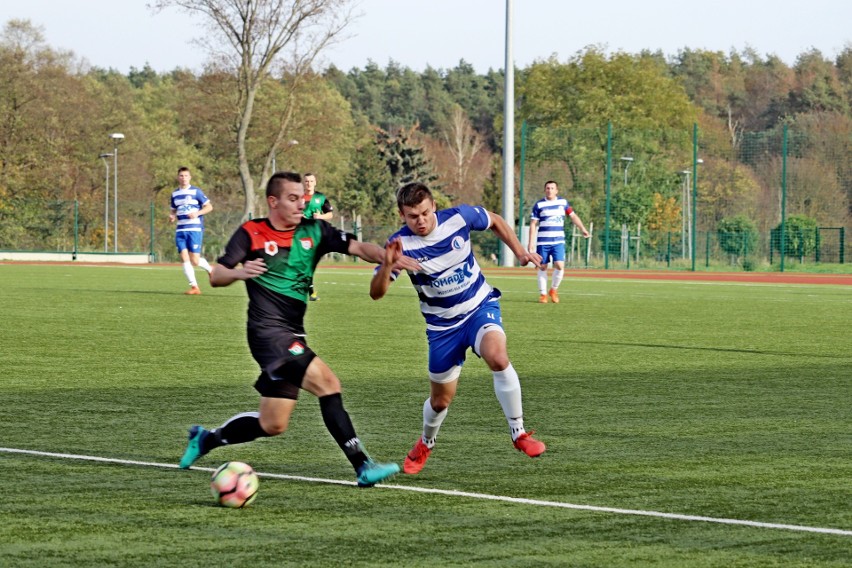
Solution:
<svg viewBox="0 0 852 568"><path fill-rule="evenodd" d="M91 212L84 216L86 239L102 242L97 212L103 210L105 176L98 156L112 151L112 132L125 134L119 189L127 203L154 201L165 208L177 167L187 165L217 209L256 216L264 211L262 196L247 196L244 178L262 187L274 165L316 172L319 189L341 214L360 216L364 225L395 223L394 190L410 179L434 185L442 204L483 202L501 210L503 72L479 73L463 59L451 69L423 71L393 61L348 71L270 68L258 79L262 88L254 94L251 120L243 121L238 109L245 94L238 86L244 78L233 67L211 63L200 72L158 73L146 64L123 74L91 67L47 45L32 22L12 20L0 35L0 77L0 248L14 247L28 226L38 224L39 211L58 200L76 200L81 211ZM643 133L624 142L640 154L656 151L655 133L689 133L697 123L708 161L716 155L742 165L743 149L769 144L787 125L797 133L794 151L810 149L809 169L801 175L823 180L797 186L791 212L850 224L852 47L833 60L809 50L792 66L751 49L684 48L667 56L589 47L565 60L536 61L515 77L519 134L524 121L538 129L593 131L590 144L598 150L608 124L621 133ZM565 145L540 141L548 143ZM520 149L513 152L517 163ZM603 191L599 176L588 177L603 164L577 155L576 169L559 181L582 204ZM839 181L826 181L826 170ZM718 182L740 174L734 167L703 177L702 195L720 203L702 223L744 211L759 215L765 198L760 183ZM676 175L644 175L648 183L637 183L634 191L644 192L636 198L646 209L664 207L677 195ZM585 179L591 180L587 187ZM731 191L739 193L726 196ZM815 204L826 200L830 205ZM144 237L144 225L122 229L123 248Z"/></svg>

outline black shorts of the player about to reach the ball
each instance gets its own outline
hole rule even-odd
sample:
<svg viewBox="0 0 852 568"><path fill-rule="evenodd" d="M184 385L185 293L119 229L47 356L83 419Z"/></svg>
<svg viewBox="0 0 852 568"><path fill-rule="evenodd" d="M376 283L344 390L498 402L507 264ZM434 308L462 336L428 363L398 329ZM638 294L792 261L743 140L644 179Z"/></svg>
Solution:
<svg viewBox="0 0 852 568"><path fill-rule="evenodd" d="M280 328L250 327L248 342L261 371L255 390L269 398L298 399L302 379L316 357L305 336Z"/></svg>

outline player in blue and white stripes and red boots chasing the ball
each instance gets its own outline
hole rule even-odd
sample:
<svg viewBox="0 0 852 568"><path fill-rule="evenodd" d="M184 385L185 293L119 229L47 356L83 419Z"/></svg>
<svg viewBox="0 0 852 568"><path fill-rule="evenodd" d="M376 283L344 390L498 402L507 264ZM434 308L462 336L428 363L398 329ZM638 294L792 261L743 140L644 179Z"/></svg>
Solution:
<svg viewBox="0 0 852 568"><path fill-rule="evenodd" d="M494 392L509 422L512 441L530 457L544 453L544 443L524 429L521 383L509 361L500 314L500 291L492 288L473 255L471 231L491 229L506 243L521 265L537 267L541 257L524 250L506 221L482 207L459 205L436 210L428 187L410 183L397 192L405 226L385 245L385 262L373 275L370 296L383 297L399 276L402 257L413 258L419 270L408 271L420 298L429 341L430 396L423 404L423 433L403 464L405 473L418 473L426 464L447 409L456 394L468 348L481 357L494 377Z"/></svg>

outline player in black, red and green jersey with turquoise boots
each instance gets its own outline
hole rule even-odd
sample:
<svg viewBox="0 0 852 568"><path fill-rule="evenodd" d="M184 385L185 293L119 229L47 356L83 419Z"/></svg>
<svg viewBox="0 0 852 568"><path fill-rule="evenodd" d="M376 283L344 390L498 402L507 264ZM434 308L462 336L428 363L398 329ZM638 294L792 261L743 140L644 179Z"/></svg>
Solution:
<svg viewBox="0 0 852 568"><path fill-rule="evenodd" d="M254 385L260 393L260 408L232 416L214 430L192 426L180 467L190 467L219 446L283 433L299 390L304 389L319 398L326 428L352 463L358 485L370 487L397 473L399 466L376 463L364 451L343 408L340 380L308 347L304 316L314 270L324 254L338 252L380 263L385 251L359 242L326 221L305 219L304 196L299 174L273 175L266 187L268 217L243 223L213 267L210 284L214 287L246 283L248 342L261 368Z"/></svg>

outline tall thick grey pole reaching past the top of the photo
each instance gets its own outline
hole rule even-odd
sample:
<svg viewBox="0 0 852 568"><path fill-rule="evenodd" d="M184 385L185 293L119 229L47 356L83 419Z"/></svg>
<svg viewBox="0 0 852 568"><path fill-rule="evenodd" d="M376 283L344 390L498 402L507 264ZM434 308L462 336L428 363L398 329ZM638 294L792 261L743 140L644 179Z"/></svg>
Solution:
<svg viewBox="0 0 852 568"><path fill-rule="evenodd" d="M506 63L503 98L503 218L515 232L515 64L512 57L512 0L506 0ZM502 266L514 266L512 249L501 242Z"/></svg>

